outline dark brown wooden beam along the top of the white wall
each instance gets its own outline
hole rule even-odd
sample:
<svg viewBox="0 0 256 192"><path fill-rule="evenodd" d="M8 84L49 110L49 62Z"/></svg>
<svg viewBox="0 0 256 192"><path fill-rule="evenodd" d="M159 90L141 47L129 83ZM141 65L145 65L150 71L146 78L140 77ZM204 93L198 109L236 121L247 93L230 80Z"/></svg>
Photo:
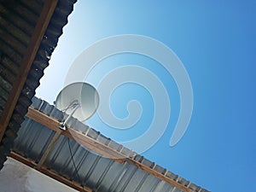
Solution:
<svg viewBox="0 0 256 192"><path fill-rule="evenodd" d="M81 192L92 192L92 189L87 188L87 187L83 187L79 183L70 181L65 177L61 177L59 174L45 168L44 166L41 166L40 168L37 168L38 165L34 161L28 160L25 157L21 156L20 154L16 154L15 152L11 152L9 154L9 156L11 158L14 158L15 160L20 161L21 163L25 164L26 166L32 167L33 169L37 170L38 172L44 173L44 175L52 177L52 178L54 178L55 180L57 180L61 183L67 184L67 186L69 186L73 189L79 190Z"/></svg>

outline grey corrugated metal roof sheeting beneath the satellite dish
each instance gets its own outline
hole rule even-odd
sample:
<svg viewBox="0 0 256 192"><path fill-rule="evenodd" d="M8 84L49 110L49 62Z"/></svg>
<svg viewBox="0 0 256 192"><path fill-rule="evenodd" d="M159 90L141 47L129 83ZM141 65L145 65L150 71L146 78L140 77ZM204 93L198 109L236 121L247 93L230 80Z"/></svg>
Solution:
<svg viewBox="0 0 256 192"><path fill-rule="evenodd" d="M60 122L64 118L64 114L61 111L36 97L33 99L32 108L36 108L40 112ZM70 119L68 126L82 132L84 136L89 136L96 141L101 141L111 146L114 150L121 150L118 143L114 143L111 139L102 136L98 131L89 128L77 119ZM26 120L22 123L20 131L18 132L18 137L15 139L13 151L38 164L54 136L55 131L26 117ZM68 143L70 144L73 154L73 160ZM166 177L172 178L186 188L193 189L194 191L207 191L196 186L194 183L186 181L182 177L178 177L172 172L166 171L166 169L157 166L155 163L143 158L143 156L134 153L128 148L123 148L122 151L130 155L134 160L143 163L143 165L151 167L162 174L166 174ZM76 166L73 165L73 161ZM71 181L92 189L92 191L182 191L172 186L172 184L166 183L160 178L143 171L138 166L132 165L129 161L120 164L115 160L96 154L96 152L89 148L84 148L84 146L76 141L63 135L57 139L54 148L52 148L43 166L61 175L61 177L67 177L67 179Z"/></svg>

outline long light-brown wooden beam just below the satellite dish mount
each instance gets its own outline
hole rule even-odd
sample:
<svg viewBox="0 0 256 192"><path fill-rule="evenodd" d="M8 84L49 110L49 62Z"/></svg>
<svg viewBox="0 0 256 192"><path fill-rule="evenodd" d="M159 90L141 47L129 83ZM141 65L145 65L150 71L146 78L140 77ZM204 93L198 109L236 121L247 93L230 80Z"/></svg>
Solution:
<svg viewBox="0 0 256 192"><path fill-rule="evenodd" d="M46 127L49 127L49 129L52 129L54 131L59 130L58 126L60 125L60 122L49 117L48 115L46 115L44 113L39 112L38 110L36 110L34 108L28 108L28 113L26 113L26 116L34 121L37 121L38 123L40 123ZM89 148L90 150L93 150L96 153L101 154L102 156L108 157L112 160L115 160L119 163L123 164L125 161L128 161L132 165L137 166L139 169L142 169L143 171L154 175L154 177L158 177L161 180L165 181L166 183L172 184L172 186L175 186L177 189L180 189L184 192L193 192L192 189L185 187L181 183L177 183L177 181L173 180L172 178L166 177L166 175L164 175L160 172L157 172L153 168L144 165L143 163L139 162L138 160L134 160L125 154L121 154L117 150L110 148L108 145L100 143L100 142L96 141L95 139L90 138L79 131L76 131L74 129L67 129L67 131L61 131L61 134L66 137L72 138L76 142L83 145L85 148Z"/></svg>

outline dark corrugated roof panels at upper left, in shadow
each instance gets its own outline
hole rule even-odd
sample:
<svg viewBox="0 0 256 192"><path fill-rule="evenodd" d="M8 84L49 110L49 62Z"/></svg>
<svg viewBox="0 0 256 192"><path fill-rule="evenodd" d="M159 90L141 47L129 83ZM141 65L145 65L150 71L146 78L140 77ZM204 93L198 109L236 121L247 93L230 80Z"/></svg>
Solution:
<svg viewBox="0 0 256 192"><path fill-rule="evenodd" d="M35 95L39 79L44 75L44 68L49 65L50 55L62 34L63 26L67 24L67 16L73 11L75 2L76 0L59 0L57 3L2 143L0 143L0 169L6 160L6 154L9 154L9 148L16 137L16 131L24 120L27 108L32 103L31 99ZM44 0L4 0L0 2L0 116L19 73L20 62L30 43L43 6Z"/></svg>

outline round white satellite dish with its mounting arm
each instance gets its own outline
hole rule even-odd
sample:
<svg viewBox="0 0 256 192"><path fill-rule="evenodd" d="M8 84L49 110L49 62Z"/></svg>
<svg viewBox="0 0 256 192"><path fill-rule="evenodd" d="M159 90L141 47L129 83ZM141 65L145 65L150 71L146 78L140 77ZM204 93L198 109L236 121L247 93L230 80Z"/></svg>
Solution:
<svg viewBox="0 0 256 192"><path fill-rule="evenodd" d="M77 82L64 87L55 101L55 107L69 114L61 128L65 130L67 120L71 116L84 121L89 119L99 105L99 94L96 89L87 83Z"/></svg>

